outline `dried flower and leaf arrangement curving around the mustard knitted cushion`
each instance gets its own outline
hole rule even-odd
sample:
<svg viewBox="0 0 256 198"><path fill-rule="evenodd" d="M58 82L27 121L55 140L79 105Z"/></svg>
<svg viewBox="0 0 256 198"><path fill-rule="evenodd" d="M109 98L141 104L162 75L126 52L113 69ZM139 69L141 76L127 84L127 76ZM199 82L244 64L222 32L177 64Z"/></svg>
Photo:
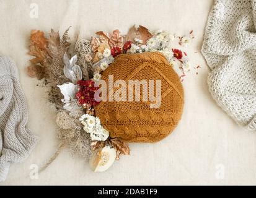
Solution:
<svg viewBox="0 0 256 198"><path fill-rule="evenodd" d="M61 143L46 166L65 145L69 145L73 153L89 160L94 171L105 171L121 154L130 154L128 145L121 139L112 139L94 113L94 106L99 104L94 98L98 89L95 82L100 80L100 73L118 54L159 51L166 56L170 66L180 62L183 75L190 71L187 54L172 49L172 41L179 38L180 45L188 46L194 38L193 32L189 36L175 37L162 30L151 33L139 25L138 28L131 27L126 35L121 35L119 30L95 34L97 36L91 40L77 40L75 51L70 52L68 30L62 38L54 30L48 37L40 30L31 32L29 54L34 58L27 67L28 74L50 84L48 100L58 111L56 124ZM70 59L69 53L73 55Z"/></svg>

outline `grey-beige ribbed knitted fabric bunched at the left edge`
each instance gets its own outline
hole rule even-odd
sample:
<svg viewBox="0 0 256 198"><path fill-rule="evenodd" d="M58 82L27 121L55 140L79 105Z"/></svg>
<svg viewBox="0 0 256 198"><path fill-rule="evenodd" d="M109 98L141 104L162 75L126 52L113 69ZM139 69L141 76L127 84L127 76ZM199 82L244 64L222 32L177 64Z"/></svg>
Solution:
<svg viewBox="0 0 256 198"><path fill-rule="evenodd" d="M6 179L11 163L25 160L37 142L26 127L27 119L17 67L0 56L0 181Z"/></svg>

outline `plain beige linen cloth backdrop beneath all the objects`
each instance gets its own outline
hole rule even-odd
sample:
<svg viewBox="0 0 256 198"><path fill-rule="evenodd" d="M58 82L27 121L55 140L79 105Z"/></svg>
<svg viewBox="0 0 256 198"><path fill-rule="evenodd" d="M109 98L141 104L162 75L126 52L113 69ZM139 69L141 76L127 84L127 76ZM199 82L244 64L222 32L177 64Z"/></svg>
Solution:
<svg viewBox="0 0 256 198"><path fill-rule="evenodd" d="M0 185L256 184L256 134L237 126L216 105L206 84L209 69L200 48L212 4L213 0L0 0L0 54L19 67L29 127L40 137L30 157L11 165ZM37 6L38 17L31 11ZM133 24L177 35L194 30L195 40L186 51L192 65L202 68L198 75L192 69L183 82L185 107L177 129L157 144L130 144L131 155L104 173L93 173L88 163L64 149L38 178L30 177L58 145L47 88L37 87L38 81L26 74L30 30L54 28L63 33L71 25L74 41L78 34L90 38L98 30L119 28L126 33Z"/></svg>

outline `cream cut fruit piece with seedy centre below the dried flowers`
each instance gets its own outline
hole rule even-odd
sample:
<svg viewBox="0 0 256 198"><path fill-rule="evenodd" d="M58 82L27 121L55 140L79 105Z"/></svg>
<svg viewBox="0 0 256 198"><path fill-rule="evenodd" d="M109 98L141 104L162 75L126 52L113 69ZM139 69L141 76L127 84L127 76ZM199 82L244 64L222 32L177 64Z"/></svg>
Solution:
<svg viewBox="0 0 256 198"><path fill-rule="evenodd" d="M90 168L94 172L103 172L113 165L117 152L110 146L95 150L89 160Z"/></svg>

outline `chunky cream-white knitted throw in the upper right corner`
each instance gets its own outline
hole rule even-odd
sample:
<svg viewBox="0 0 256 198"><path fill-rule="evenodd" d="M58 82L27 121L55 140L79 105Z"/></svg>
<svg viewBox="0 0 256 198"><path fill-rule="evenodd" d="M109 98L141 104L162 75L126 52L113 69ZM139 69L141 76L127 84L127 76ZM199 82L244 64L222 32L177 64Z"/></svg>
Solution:
<svg viewBox="0 0 256 198"><path fill-rule="evenodd" d="M202 53L213 98L235 121L256 129L256 0L217 0Z"/></svg>

